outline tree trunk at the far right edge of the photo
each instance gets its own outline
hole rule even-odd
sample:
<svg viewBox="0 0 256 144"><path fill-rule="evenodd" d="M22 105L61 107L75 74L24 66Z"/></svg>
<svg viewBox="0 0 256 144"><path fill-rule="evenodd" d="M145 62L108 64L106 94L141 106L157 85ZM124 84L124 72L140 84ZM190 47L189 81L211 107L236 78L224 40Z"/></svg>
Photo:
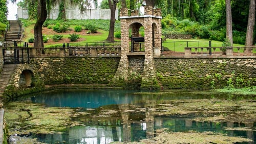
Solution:
<svg viewBox="0 0 256 144"><path fill-rule="evenodd" d="M250 0L245 46L253 45L254 25L255 25L255 0Z"/></svg>

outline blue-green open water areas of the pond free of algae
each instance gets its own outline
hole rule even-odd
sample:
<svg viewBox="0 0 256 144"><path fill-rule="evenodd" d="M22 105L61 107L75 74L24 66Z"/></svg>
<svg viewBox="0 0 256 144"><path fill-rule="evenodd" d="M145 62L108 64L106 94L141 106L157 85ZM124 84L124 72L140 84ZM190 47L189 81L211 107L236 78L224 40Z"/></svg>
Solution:
<svg viewBox="0 0 256 144"><path fill-rule="evenodd" d="M256 123L244 122L196 122L191 115L146 115L148 106L161 104L165 101L222 99L220 95L174 93L174 94L134 94L135 91L126 90L74 90L56 91L34 94L23 98L23 101L45 104L48 107L72 107L81 111L92 109L116 109L121 114L111 117L78 116L74 121L80 121L81 126L67 127L66 131L54 134L31 134L29 138L37 138L45 143L110 143L113 141L138 141L143 138L154 137L158 129L166 128L173 132L211 131L229 136L242 136L256 139ZM225 97L223 98L225 99ZM128 108L127 108L128 107ZM135 108L133 108L135 107ZM139 111L135 109L140 109ZM131 110L131 112L123 112ZM124 118L125 114L129 118ZM151 119L152 121L147 121ZM227 130L226 128L249 128L243 130Z"/></svg>

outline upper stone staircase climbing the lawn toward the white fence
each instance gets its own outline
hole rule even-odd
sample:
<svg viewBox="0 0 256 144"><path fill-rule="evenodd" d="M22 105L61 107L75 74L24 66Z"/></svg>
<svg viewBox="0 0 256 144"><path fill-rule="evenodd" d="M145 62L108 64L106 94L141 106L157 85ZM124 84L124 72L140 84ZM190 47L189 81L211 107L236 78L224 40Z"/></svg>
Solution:
<svg viewBox="0 0 256 144"><path fill-rule="evenodd" d="M5 41L20 40L22 35L18 20L9 20L10 31L7 32Z"/></svg>

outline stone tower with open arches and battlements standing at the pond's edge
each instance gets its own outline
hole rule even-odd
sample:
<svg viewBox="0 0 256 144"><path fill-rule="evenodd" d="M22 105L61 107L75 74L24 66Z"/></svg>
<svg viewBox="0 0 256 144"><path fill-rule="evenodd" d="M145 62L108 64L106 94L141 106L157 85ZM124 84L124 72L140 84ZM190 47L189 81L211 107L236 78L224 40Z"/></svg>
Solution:
<svg viewBox="0 0 256 144"><path fill-rule="evenodd" d="M160 55L161 48L161 11L152 7L144 8L144 15L128 15L128 10L120 10L121 21L121 59L115 78L127 80L129 77L129 59L132 57L144 57L141 88L158 89L154 57ZM139 37L140 27L144 27L144 47L139 51L138 45L134 44L135 51L131 51L129 29L132 37Z"/></svg>

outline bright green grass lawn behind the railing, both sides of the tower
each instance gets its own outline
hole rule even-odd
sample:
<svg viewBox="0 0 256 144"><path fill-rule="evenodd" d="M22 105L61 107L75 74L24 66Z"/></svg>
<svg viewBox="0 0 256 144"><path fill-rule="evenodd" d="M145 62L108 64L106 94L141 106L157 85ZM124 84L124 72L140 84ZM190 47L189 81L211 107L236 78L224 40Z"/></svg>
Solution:
<svg viewBox="0 0 256 144"><path fill-rule="evenodd" d="M74 22L73 22L74 23ZM54 25L50 25L53 27ZM59 47L62 46L62 43L86 43L86 42L103 42L108 37L108 31L98 29L97 33L95 34L87 34L87 30L82 30L82 32L74 32L74 27L76 25L70 25L70 31L67 31L65 33L56 33L52 29L43 28L42 33L46 35L49 38L49 41L45 43L45 47ZM34 25L30 25L25 27L25 37L23 41L28 41L30 38L34 37L33 32ZM82 27L84 28L84 27ZM76 33L79 35L79 40L76 42L70 42L70 39L68 38L70 34ZM52 40L52 37L54 34L62 35L62 40L58 42L54 42ZM120 39L115 39L116 41L120 41ZM174 52L184 52L184 47L209 47L209 41L208 39L166 39L166 41L163 41L162 45L166 48L168 48L170 51ZM222 41L215 41L211 40L211 46L212 47L221 47ZM30 44L32 46L33 44ZM233 44L233 46L244 46L241 44ZM200 49L197 50L198 52L201 52ZM237 48L234 48L234 52L238 52ZM195 49L192 49L192 52L195 52ZM203 50L203 52L207 52L206 49ZM212 53L214 52L220 52L220 49L216 49L216 51L212 50ZM240 50L241 53L243 53L243 49ZM253 53L256 53L256 50L253 50Z"/></svg>

